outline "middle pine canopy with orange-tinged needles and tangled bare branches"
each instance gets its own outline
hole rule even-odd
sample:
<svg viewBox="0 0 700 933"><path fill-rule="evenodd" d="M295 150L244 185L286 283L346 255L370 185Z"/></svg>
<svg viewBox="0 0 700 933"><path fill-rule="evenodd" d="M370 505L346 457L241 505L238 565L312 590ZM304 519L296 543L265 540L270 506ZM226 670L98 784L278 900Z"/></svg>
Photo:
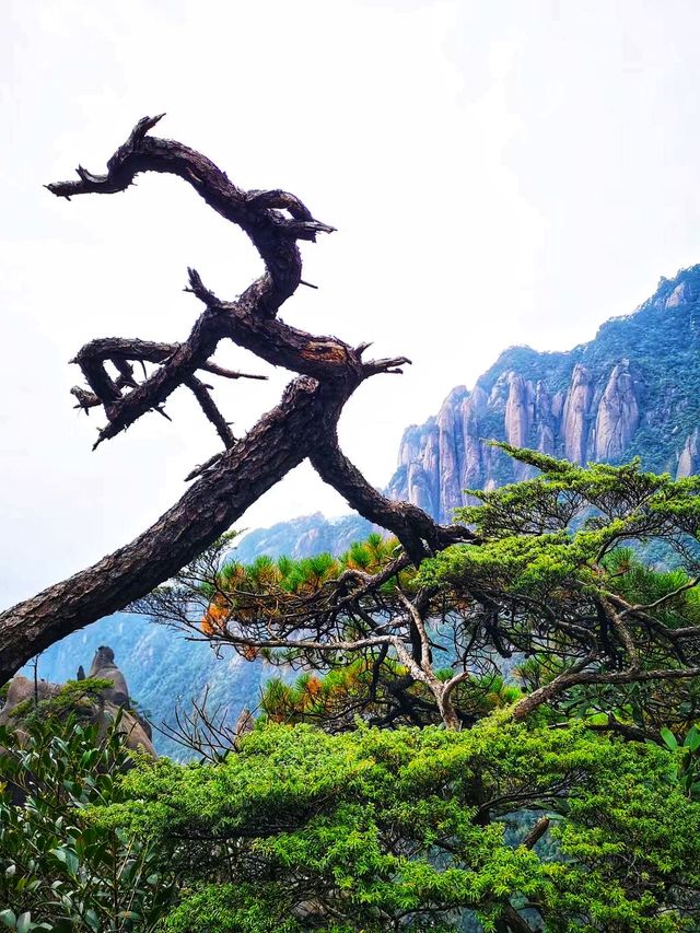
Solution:
<svg viewBox="0 0 700 933"><path fill-rule="evenodd" d="M629 720L634 692L648 696L650 724L670 715L653 712L664 696L680 709L682 695L692 716L700 478L505 448L538 475L470 491L475 504L458 517L471 541L419 568L380 535L337 559L250 565L236 562L225 538L137 608L248 660L337 672L332 713L323 686L330 680L306 676L302 686L339 727L358 714L377 725L469 725L483 712L485 688L492 693L514 665L528 688L516 718L575 695L614 725ZM268 705L275 691L278 714L289 701L298 719L281 681ZM306 707L311 716L314 703Z"/></svg>

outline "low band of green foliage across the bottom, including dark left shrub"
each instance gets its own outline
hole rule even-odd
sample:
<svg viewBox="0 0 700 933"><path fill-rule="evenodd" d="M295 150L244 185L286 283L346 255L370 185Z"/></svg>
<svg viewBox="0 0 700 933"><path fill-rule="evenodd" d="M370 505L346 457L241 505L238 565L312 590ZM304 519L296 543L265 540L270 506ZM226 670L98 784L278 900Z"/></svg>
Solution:
<svg viewBox="0 0 700 933"><path fill-rule="evenodd" d="M11 929L526 929L513 911L550 931L695 929L700 802L677 750L502 711L460 733L268 725L223 762L115 780L115 733L57 728L13 749L12 780L31 770L44 794L2 803Z"/></svg>

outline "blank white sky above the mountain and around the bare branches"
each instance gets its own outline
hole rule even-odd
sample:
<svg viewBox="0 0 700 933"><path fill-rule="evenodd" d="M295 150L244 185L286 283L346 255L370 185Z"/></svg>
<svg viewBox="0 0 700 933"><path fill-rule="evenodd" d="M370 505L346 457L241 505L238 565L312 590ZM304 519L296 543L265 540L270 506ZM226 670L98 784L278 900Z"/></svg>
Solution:
<svg viewBox="0 0 700 933"><path fill-rule="evenodd" d="M93 337L183 339L198 303L259 271L178 179L70 203L145 114L249 188L283 187L339 232L304 245L285 320L377 355L345 450L384 485L402 430L512 343L567 349L700 260L695 0L3 0L0 30L0 605L129 540L218 448L182 393L91 445L68 360ZM303 293L302 293L303 292ZM265 364L242 352L222 362ZM269 368L268 368L269 369ZM222 385L243 432L279 397ZM345 503L306 467L245 516Z"/></svg>

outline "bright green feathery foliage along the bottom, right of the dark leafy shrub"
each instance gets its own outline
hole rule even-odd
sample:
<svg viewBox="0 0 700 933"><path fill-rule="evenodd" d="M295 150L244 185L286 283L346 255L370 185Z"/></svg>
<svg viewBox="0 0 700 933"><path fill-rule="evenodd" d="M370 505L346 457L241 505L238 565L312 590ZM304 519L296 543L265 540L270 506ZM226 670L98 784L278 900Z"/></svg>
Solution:
<svg viewBox="0 0 700 933"><path fill-rule="evenodd" d="M221 763L130 772L91 819L166 854L170 933L494 931L510 905L548 931L661 933L700 909L700 803L675 761L503 713L462 733L268 725ZM526 848L541 814L549 844Z"/></svg>

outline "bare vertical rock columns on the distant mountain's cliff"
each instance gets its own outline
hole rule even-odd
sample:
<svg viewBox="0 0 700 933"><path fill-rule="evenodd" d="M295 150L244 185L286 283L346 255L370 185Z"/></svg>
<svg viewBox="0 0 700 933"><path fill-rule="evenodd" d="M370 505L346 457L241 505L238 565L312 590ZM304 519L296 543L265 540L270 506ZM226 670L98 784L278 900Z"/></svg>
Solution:
<svg viewBox="0 0 700 933"><path fill-rule="evenodd" d="M628 360L597 376L576 363L564 390L523 373L502 373L487 395L477 383L445 399L436 419L408 429L399 469L388 487L441 521L466 501L465 490L526 478L532 470L488 446L488 439L533 447L576 464L619 459L640 423L640 388Z"/></svg>

